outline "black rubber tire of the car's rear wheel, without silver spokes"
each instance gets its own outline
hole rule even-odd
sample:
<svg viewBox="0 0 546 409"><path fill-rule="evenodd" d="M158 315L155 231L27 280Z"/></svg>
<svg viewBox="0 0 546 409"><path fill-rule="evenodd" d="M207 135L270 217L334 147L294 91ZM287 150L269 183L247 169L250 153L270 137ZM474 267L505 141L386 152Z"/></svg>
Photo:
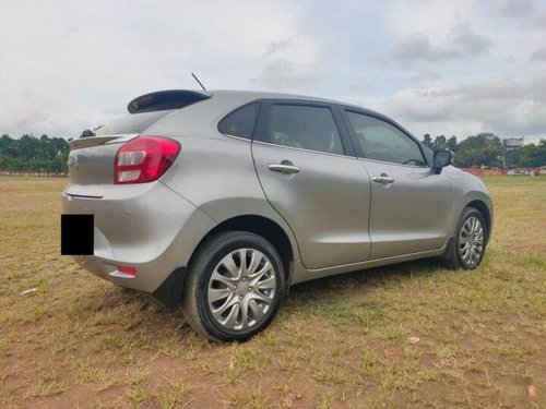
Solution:
<svg viewBox="0 0 546 409"><path fill-rule="evenodd" d="M262 273L262 276L269 277L268 281L270 281L270 286L273 286L274 282L274 290L261 290L258 284L264 281L258 281L254 288L250 287L252 276L248 272L248 274L242 273L241 261L240 258L237 258L236 255L234 255L235 252L237 252L239 249L248 249L245 250L245 272L247 272L248 264L252 264L251 262L248 262L248 257L253 257L253 254L257 254L257 258L261 257L258 254L265 256L265 258L261 260L266 260L268 262L270 262L272 268L269 268L265 275ZM242 281L238 281L239 286L234 285L232 287L229 285L224 285L224 281L215 279L216 277L218 277L217 274L215 274L215 278L212 278L215 270L217 270L222 272L222 274L225 274L225 276L222 276L223 278L232 279L228 269L224 266L224 264L221 264L221 262L227 260L228 257L230 257L230 261L234 261L235 264L237 264L237 260L239 260L239 265L235 266L239 268L239 277L245 275L248 277L245 278L246 287ZM264 264L260 264L262 266L262 269L260 272L265 268L265 262L263 263ZM222 270L222 268L224 268L225 272ZM259 274L260 272L258 272L257 274ZM229 277L227 277L228 275ZM274 279L272 279L271 277L274 277ZM242 280L244 278L240 279ZM237 315L235 318L237 320L242 315L242 310L247 311L247 315L244 315L247 318L245 321L246 324L244 324L244 320L241 316L239 324L241 326L240 328L229 328L228 324L225 324L226 326L224 326L219 322L223 317L216 318L214 316L214 302L224 302L223 300L214 302L211 301L213 304L209 302L209 293L210 291L216 290L214 286L216 286L217 284L219 284L221 286L225 286L225 288L219 288L218 291L228 292L228 296L226 296L227 298L225 299L226 304L229 304L232 302L234 304L238 304L237 308L233 305L228 308L230 310L228 316ZM232 281L229 281L229 284L232 284ZM191 262L183 286L183 314L193 329L210 339L221 341L244 341L263 330L271 324L285 294L285 286L286 280L283 263L277 251L269 241L258 234L246 231L222 232L210 238L205 243L203 243L203 245L199 249L195 258ZM237 289L237 291L235 291L234 289ZM258 291L273 291L268 293L268 297L271 297L271 303L266 304L259 298L252 298L253 294ZM262 292L258 293L258 296L260 294L262 294ZM254 309L250 308L250 303L253 303L252 306L254 306ZM249 325L250 316L252 315L253 311L258 311L256 310L257 305L260 305L259 312L263 313L263 309L266 309L266 312L264 312L263 315L259 317L259 320L257 317L259 314L256 314L256 316L253 317L254 323ZM218 308L217 310L215 310L215 312L217 313L218 310L222 310L222 308ZM226 321L229 320L226 318ZM249 326L245 327L245 325Z"/></svg>

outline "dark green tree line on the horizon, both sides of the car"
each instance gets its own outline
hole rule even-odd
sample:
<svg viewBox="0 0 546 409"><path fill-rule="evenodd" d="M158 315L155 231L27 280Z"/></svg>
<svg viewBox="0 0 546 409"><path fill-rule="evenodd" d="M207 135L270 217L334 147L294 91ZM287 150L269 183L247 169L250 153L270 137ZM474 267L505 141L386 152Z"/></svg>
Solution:
<svg viewBox="0 0 546 409"><path fill-rule="evenodd" d="M458 142L456 136L430 134L423 136L423 143L432 151L450 149L454 165L460 168L486 166L501 168L531 168L546 165L546 140L527 144L513 151L503 151L502 141L491 133L480 133ZM68 171L69 144L63 137L23 135L12 139L0 137L0 171L36 172L61 175Z"/></svg>

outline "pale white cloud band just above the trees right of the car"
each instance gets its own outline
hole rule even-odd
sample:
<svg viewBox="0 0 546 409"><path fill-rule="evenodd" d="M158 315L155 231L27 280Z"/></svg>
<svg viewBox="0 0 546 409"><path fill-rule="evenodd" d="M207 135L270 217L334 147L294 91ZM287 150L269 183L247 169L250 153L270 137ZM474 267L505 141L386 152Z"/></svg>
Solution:
<svg viewBox="0 0 546 409"><path fill-rule="evenodd" d="M546 137L546 72L530 81L491 77L439 88L406 88L370 103L418 136L495 132L526 135L530 141Z"/></svg>

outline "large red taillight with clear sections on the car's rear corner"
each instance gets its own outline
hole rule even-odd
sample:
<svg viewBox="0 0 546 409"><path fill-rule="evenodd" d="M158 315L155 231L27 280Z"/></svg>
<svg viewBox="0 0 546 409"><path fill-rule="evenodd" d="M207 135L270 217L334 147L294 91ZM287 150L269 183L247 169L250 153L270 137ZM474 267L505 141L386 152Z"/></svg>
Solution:
<svg viewBox="0 0 546 409"><path fill-rule="evenodd" d="M138 136L116 153L114 183L146 183L159 179L173 165L180 145L159 136Z"/></svg>

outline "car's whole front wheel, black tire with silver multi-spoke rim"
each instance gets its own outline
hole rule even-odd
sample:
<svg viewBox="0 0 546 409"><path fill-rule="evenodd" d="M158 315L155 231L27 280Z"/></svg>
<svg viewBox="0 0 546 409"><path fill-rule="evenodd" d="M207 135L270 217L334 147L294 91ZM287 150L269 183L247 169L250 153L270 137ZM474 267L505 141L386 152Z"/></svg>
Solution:
<svg viewBox="0 0 546 409"><path fill-rule="evenodd" d="M466 207L443 254L448 267L476 268L484 258L487 233L482 213L474 207Z"/></svg>

